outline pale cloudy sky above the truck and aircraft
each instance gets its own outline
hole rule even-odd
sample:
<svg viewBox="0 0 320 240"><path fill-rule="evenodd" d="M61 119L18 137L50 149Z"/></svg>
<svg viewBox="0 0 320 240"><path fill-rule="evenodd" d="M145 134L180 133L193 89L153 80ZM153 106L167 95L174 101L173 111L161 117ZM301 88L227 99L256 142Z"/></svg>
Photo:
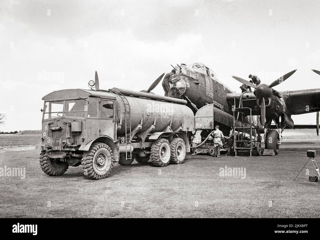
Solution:
<svg viewBox="0 0 320 240"><path fill-rule="evenodd" d="M294 69L276 90L319 88L319 10L314 0L1 0L0 131L41 129L42 97L87 88L96 70L102 89L148 89L170 64L194 62L237 92L231 75L268 83Z"/></svg>

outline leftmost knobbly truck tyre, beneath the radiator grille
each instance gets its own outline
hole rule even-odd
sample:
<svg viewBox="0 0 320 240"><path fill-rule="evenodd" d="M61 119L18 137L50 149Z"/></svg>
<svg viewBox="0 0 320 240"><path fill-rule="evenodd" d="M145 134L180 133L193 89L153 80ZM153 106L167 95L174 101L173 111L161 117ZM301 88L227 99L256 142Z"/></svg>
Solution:
<svg viewBox="0 0 320 240"><path fill-rule="evenodd" d="M69 168L69 164L60 160L61 158L49 158L45 151L41 152L39 161L42 171L49 176L64 174Z"/></svg>

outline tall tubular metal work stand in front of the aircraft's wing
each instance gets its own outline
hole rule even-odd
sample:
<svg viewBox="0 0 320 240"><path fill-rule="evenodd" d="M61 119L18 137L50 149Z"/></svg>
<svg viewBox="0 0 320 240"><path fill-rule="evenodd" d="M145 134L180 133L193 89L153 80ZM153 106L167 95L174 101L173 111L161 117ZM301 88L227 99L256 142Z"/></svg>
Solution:
<svg viewBox="0 0 320 240"><path fill-rule="evenodd" d="M233 111L233 149L235 152L235 157L237 156L237 150L243 150L243 149L250 149L250 157L252 157L252 143L254 143L254 146L256 146L256 139L252 141L252 129L254 131L254 136L256 135L256 130L254 127L252 127L252 112L255 110L249 107L243 107L243 101L256 101L255 99L242 99L241 95L240 98L234 97L234 111ZM236 99L239 100L239 107L236 108ZM235 113L238 113L237 116L235 116ZM241 115L241 123L242 126L238 127L238 121L240 120L239 117ZM245 116L250 116L250 127L244 127L244 117ZM236 119L236 120L235 120ZM259 119L259 116L258 116ZM236 122L235 122L236 121ZM250 139L249 140L244 140L244 130L245 129L250 129ZM239 131L241 130L242 134L239 134ZM236 137L236 131L238 132L238 137ZM260 134L259 134L260 135ZM241 137L241 138L240 138ZM240 144L237 144L239 142ZM244 147L244 143L250 143L250 147Z"/></svg>

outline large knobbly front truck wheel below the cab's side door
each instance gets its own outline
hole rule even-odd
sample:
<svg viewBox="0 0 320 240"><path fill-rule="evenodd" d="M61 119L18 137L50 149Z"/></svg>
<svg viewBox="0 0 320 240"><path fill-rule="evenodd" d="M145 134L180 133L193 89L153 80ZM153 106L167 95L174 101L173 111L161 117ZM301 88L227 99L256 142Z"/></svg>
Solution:
<svg viewBox="0 0 320 240"><path fill-rule="evenodd" d="M116 159L111 148L101 142L92 143L89 151L84 152L81 160L84 175L91 179L106 178L115 162Z"/></svg>

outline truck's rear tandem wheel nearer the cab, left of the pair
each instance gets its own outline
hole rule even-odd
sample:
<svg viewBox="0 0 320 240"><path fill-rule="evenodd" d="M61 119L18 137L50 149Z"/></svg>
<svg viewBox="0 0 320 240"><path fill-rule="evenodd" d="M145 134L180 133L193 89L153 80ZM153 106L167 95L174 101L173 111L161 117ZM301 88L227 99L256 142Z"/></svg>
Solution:
<svg viewBox="0 0 320 240"><path fill-rule="evenodd" d="M159 138L151 146L150 160L156 167L165 167L170 163L171 150L169 141Z"/></svg>

